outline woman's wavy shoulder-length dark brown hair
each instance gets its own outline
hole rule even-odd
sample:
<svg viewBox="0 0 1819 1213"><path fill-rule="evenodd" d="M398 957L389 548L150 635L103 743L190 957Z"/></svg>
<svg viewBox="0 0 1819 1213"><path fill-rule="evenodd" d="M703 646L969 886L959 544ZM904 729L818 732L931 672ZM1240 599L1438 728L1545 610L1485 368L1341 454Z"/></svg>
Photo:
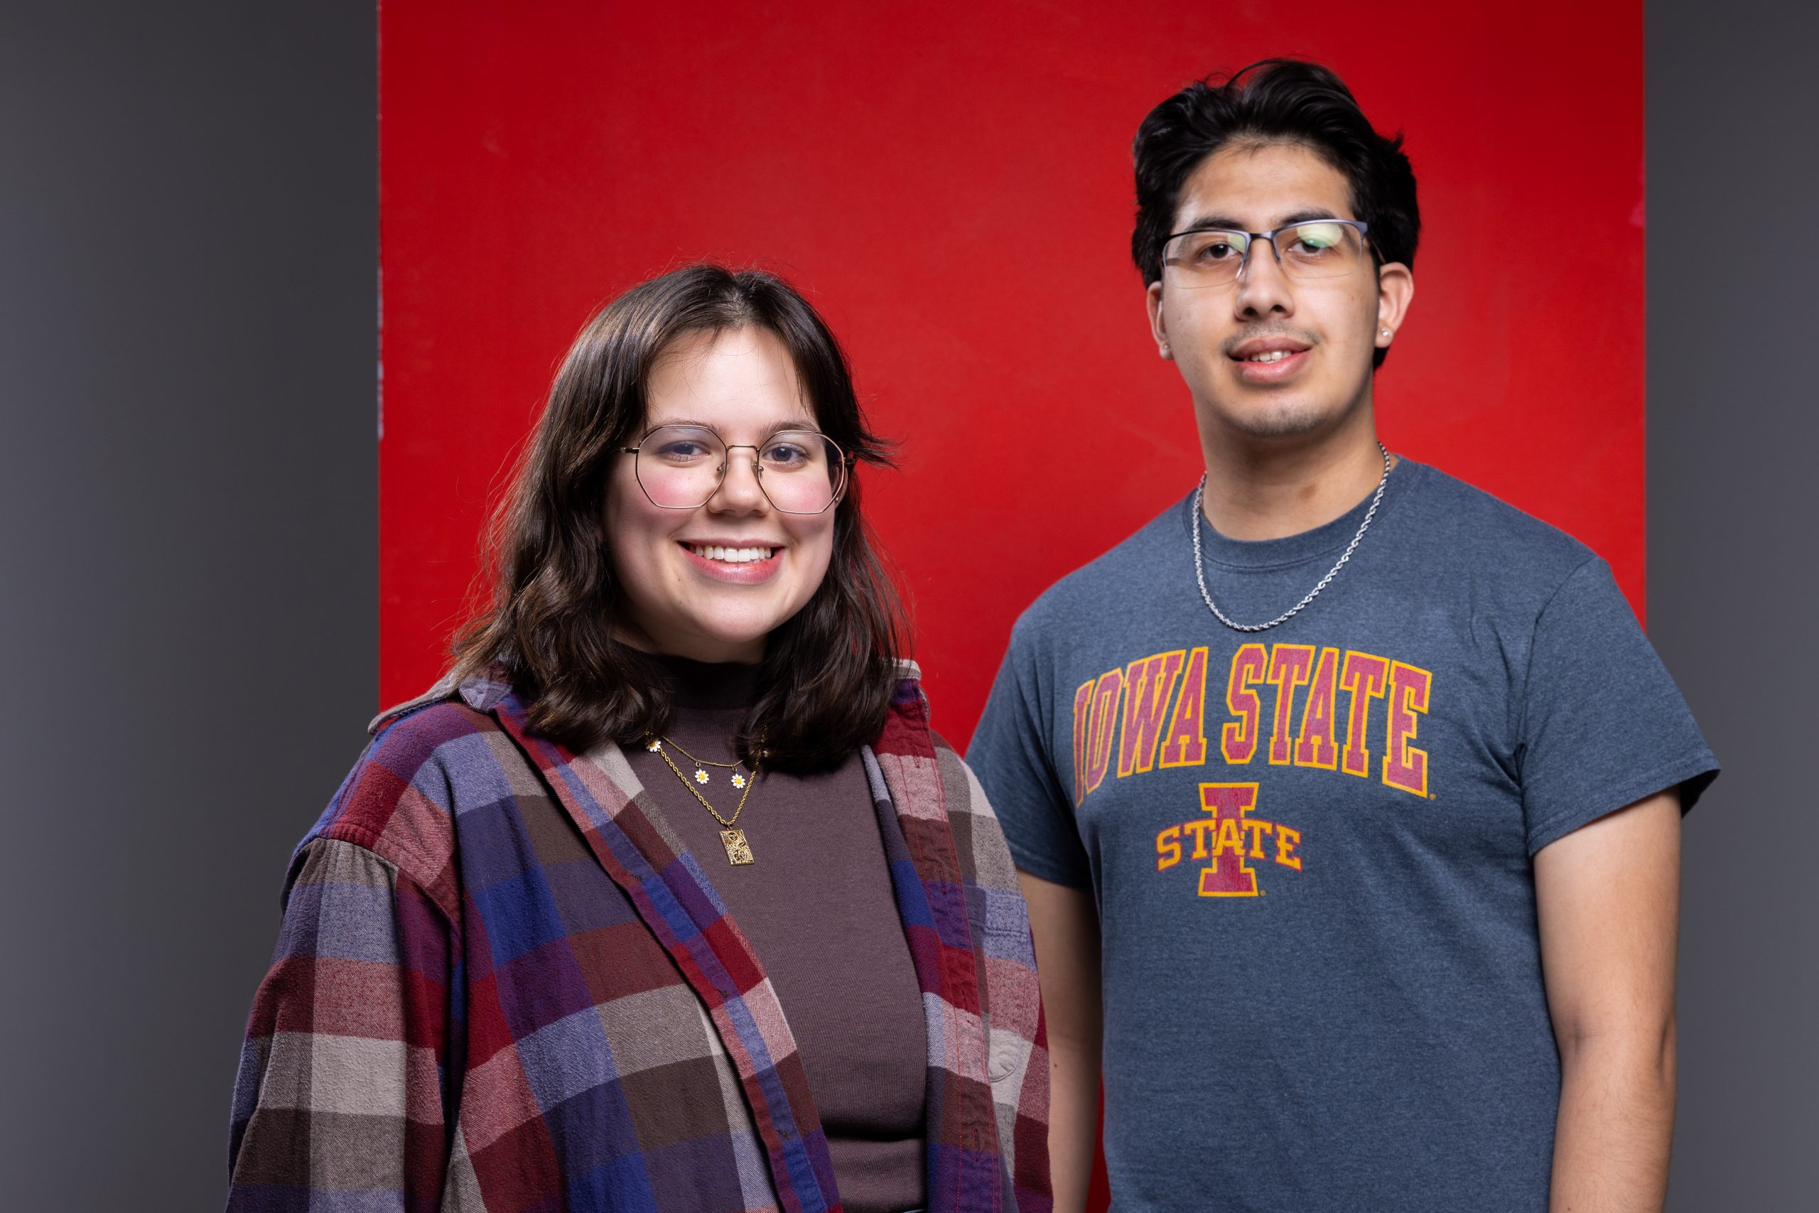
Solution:
<svg viewBox="0 0 1819 1213"><path fill-rule="evenodd" d="M493 520L491 602L455 640L462 675L502 666L544 737L582 751L669 726L662 667L615 640L624 598L606 551L606 486L646 418L651 369L682 336L762 327L795 362L815 422L844 451L888 464L866 429L846 355L789 284L759 269L688 266L642 282L588 322ZM815 596L764 647L759 698L735 738L751 760L813 771L877 738L897 684L902 609L848 478L833 560Z"/></svg>

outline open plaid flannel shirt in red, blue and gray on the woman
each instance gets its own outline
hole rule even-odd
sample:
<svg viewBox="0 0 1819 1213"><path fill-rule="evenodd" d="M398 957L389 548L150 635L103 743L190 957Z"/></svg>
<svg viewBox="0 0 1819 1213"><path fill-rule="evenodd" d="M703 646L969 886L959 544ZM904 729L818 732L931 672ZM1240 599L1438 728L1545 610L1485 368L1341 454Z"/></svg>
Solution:
<svg viewBox="0 0 1819 1213"><path fill-rule="evenodd" d="M624 755L524 707L469 678L380 717L298 846L227 1208L839 1209L739 924ZM928 1209L1046 1211L1028 913L913 667L864 767L928 1018Z"/></svg>

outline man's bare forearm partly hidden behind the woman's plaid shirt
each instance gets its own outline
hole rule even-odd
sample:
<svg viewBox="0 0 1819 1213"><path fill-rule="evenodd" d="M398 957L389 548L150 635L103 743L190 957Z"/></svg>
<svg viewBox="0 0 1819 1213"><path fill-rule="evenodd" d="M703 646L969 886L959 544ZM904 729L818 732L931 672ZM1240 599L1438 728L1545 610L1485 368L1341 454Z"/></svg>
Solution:
<svg viewBox="0 0 1819 1213"><path fill-rule="evenodd" d="M1048 1158L1055 1213L1080 1213L1099 1148L1099 909L1090 889L1017 873L1048 1017Z"/></svg>

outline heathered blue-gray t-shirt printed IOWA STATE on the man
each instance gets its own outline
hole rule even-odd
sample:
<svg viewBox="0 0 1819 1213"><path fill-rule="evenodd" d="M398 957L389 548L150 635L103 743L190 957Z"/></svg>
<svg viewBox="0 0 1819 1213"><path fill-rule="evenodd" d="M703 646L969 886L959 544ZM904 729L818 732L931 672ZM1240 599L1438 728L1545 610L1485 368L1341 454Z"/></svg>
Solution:
<svg viewBox="0 0 1819 1213"><path fill-rule="evenodd" d="M1293 606L1364 504L1197 520L1213 600ZM1104 940L1113 1208L1548 1206L1559 1053L1532 857L1713 778L1588 547L1402 460L1350 564L1219 624L1186 500L1017 622L968 764Z"/></svg>

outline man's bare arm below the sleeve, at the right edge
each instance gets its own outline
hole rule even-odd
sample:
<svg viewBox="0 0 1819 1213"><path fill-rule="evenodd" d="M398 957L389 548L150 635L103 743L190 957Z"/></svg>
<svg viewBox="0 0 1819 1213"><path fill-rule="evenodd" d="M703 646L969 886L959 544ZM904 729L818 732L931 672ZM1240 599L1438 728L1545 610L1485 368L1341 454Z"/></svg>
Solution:
<svg viewBox="0 0 1819 1213"><path fill-rule="evenodd" d="M1673 1142L1679 884L1677 791L1535 855L1541 966L1561 1048L1552 1213L1661 1213Z"/></svg>

